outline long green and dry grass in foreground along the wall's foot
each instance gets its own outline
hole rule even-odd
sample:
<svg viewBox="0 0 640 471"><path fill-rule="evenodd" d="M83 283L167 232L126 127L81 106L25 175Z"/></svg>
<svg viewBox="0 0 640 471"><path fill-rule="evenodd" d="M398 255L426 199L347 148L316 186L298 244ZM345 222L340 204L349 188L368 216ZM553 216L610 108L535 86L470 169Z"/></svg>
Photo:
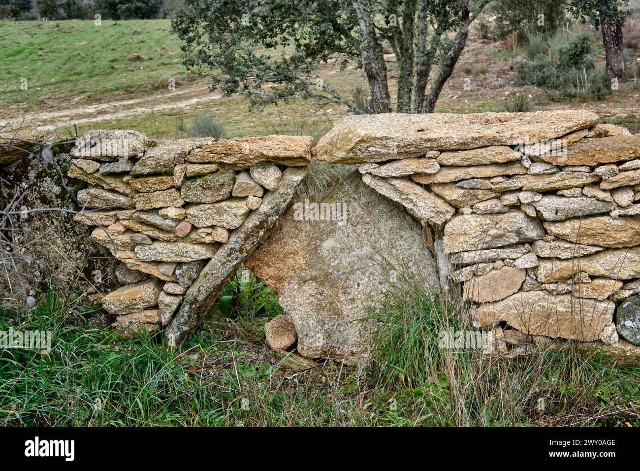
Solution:
<svg viewBox="0 0 640 471"><path fill-rule="evenodd" d="M96 310L83 302L49 292L24 318L0 315L0 330L53 333L49 354L0 352L1 425L640 425L639 368L572 350L440 349L442 329L465 328L464 310L406 277L372 308L381 329L364 368L292 369L291 354L269 351L262 328L282 308L251 276L225 288L182 352L88 328Z"/></svg>

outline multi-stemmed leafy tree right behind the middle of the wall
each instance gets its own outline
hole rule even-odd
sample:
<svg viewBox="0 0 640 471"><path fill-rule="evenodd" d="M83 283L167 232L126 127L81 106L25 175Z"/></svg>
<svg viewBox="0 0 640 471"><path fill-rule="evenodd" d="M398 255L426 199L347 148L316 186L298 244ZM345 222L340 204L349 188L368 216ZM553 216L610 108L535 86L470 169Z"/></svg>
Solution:
<svg viewBox="0 0 640 471"><path fill-rule="evenodd" d="M374 113L392 111L384 47L396 55L397 112L431 113L489 0L193 0L172 21L186 67L252 107L298 97L363 113L319 63L364 69ZM437 66L432 72L433 66ZM433 76L432 76L433 73Z"/></svg>

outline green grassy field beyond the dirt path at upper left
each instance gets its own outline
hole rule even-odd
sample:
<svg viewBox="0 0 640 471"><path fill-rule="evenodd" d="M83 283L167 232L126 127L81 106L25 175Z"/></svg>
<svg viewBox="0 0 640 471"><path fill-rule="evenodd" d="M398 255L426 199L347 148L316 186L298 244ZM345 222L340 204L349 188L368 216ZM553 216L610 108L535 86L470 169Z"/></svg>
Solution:
<svg viewBox="0 0 640 471"><path fill-rule="evenodd" d="M168 20L0 21L0 95L5 102L79 106L149 92L167 76L184 80L170 28ZM132 54L143 60L128 60ZM28 90L20 90L21 78Z"/></svg>

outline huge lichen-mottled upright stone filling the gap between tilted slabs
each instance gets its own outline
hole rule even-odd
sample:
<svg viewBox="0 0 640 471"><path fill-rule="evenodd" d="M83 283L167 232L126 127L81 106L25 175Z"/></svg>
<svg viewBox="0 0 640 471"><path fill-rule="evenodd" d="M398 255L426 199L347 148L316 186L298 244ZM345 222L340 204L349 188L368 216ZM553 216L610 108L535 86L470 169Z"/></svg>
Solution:
<svg viewBox="0 0 640 471"><path fill-rule="evenodd" d="M246 266L278 293L300 354L355 363L369 351L372 300L401 283L403 263L417 283L437 290L436 261L420 224L357 173L316 199L346 202L348 224L295 220L291 208Z"/></svg>

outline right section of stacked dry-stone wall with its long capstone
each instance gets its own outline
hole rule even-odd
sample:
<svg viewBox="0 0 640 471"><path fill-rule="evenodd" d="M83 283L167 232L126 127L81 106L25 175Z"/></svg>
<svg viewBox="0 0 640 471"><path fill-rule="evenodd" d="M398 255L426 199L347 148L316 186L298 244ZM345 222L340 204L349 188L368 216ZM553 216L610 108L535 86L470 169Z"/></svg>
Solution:
<svg viewBox="0 0 640 471"><path fill-rule="evenodd" d="M349 117L314 153L440 235L477 327L640 345L640 136L580 111L396 114Z"/></svg>

